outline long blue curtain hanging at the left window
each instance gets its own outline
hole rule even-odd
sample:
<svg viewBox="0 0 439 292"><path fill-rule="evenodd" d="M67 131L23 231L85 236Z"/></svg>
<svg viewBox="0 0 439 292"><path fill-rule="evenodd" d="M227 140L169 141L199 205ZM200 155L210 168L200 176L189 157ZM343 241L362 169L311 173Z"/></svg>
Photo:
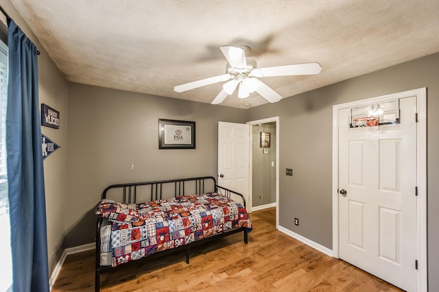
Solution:
<svg viewBox="0 0 439 292"><path fill-rule="evenodd" d="M6 150L11 222L12 291L49 291L37 49L8 23Z"/></svg>

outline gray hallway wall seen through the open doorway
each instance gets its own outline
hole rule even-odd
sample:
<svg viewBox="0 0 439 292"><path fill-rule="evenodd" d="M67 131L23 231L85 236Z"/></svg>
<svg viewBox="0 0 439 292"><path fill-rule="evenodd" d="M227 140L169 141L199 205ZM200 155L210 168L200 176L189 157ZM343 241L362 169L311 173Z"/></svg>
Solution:
<svg viewBox="0 0 439 292"><path fill-rule="evenodd" d="M261 148L261 132L270 133L270 147ZM276 202L276 123L253 125L252 135L252 207L257 207Z"/></svg>

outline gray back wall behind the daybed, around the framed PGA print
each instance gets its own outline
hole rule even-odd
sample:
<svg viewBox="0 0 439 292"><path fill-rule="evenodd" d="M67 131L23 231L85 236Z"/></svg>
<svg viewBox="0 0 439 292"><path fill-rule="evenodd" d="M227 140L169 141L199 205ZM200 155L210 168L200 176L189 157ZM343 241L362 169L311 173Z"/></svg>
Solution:
<svg viewBox="0 0 439 292"><path fill-rule="evenodd" d="M68 105L66 247L95 241L106 186L216 176L217 122L246 122L246 110L75 83ZM195 121L196 149L159 150L158 119Z"/></svg>

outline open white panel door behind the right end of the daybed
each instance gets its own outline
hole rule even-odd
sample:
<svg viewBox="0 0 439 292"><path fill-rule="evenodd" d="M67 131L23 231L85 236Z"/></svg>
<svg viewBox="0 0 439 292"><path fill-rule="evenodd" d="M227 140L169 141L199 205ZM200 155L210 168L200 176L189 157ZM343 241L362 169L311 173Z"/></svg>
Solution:
<svg viewBox="0 0 439 292"><path fill-rule="evenodd" d="M246 203L250 202L249 129L246 124L218 122L217 183L244 195Z"/></svg>

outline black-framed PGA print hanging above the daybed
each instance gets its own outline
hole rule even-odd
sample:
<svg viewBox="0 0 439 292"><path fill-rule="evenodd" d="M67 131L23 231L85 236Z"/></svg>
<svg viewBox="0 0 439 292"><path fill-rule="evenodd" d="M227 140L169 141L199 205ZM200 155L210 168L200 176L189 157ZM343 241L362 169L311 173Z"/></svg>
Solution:
<svg viewBox="0 0 439 292"><path fill-rule="evenodd" d="M195 122L158 119L158 149L195 149Z"/></svg>

